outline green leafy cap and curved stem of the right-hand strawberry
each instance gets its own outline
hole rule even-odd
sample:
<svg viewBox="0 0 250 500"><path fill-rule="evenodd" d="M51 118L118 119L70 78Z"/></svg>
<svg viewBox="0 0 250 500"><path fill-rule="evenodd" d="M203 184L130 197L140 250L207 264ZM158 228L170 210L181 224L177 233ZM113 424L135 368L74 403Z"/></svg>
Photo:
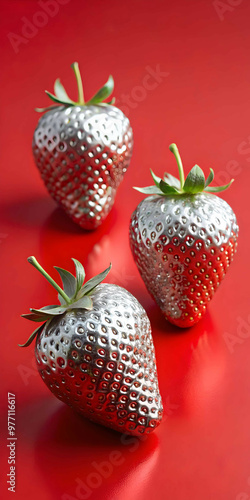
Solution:
<svg viewBox="0 0 250 500"><path fill-rule="evenodd" d="M214 187L210 186L211 182L214 179L213 169L210 168L210 173L208 175L208 178L205 179L204 172L198 165L195 165L190 170L189 174L185 179L180 153L178 151L176 144L170 144L169 149L171 153L173 153L175 156L178 165L180 179L177 179L177 177L174 177L173 175L168 173L164 174L164 178L161 179L160 177L155 175L152 170L150 170L151 175L153 177L154 185L147 186L144 188L134 187L134 189L140 191L140 193L143 194L148 194L148 195L160 194L162 196L167 196L167 195L180 196L183 194L197 194L201 193L202 191L208 193L219 193L220 191L225 191L225 189L229 188L232 182L234 181L234 179L232 179L228 184L224 186L214 186Z"/></svg>

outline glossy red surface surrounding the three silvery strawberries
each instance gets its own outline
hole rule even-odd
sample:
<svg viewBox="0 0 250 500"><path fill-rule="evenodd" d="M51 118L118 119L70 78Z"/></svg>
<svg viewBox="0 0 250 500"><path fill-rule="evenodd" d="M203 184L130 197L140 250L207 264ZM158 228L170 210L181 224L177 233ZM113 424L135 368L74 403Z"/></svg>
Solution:
<svg viewBox="0 0 250 500"><path fill-rule="evenodd" d="M18 499L249 500L250 4L58 0L53 15L41 15L47 3L1 2L1 498L11 495L9 391L17 405ZM27 20L40 27L28 28ZM52 90L58 76L74 94L74 60L87 96L113 74L117 103L135 136L115 207L93 233L56 208L31 154L33 108L47 104L43 90ZM129 218L141 200L131 187L149 183L150 167L175 172L168 152L173 141L186 171L198 163L206 174L213 167L218 183L235 177L221 196L240 226L231 269L204 318L189 330L164 320L128 244ZM109 281L146 308L165 407L163 423L146 441L121 440L57 401L34 368L33 348L17 346L33 327L19 315L54 301L53 290L26 262L32 254L48 270L68 268L74 256L89 277L111 260Z"/></svg>

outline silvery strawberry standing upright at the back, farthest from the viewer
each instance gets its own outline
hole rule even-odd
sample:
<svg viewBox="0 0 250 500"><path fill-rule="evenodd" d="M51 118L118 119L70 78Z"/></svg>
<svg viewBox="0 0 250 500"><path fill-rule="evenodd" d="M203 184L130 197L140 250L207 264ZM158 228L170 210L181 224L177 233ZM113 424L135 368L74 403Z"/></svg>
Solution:
<svg viewBox="0 0 250 500"><path fill-rule="evenodd" d="M133 132L128 118L103 102L113 92L112 76L85 102L78 63L72 65L78 101L72 101L59 79L54 102L39 120L33 137L36 165L50 195L84 229L95 229L110 212L117 188L129 166Z"/></svg>

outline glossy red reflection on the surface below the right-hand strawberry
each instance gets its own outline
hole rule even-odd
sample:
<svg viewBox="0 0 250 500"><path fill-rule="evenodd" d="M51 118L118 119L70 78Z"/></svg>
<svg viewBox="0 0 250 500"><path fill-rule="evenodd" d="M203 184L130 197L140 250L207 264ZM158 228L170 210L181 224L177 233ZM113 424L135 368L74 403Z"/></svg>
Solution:
<svg viewBox="0 0 250 500"><path fill-rule="evenodd" d="M157 305L147 309L157 359L165 417L196 418L223 391L225 349L210 311L192 328L168 322Z"/></svg>

